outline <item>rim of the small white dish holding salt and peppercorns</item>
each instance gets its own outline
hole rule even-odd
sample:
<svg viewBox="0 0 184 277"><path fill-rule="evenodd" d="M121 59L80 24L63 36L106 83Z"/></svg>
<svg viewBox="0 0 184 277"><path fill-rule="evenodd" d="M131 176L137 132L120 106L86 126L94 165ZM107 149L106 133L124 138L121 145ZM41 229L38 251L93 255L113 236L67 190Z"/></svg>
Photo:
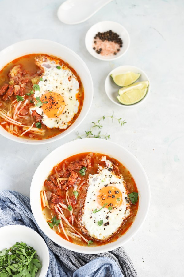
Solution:
<svg viewBox="0 0 184 277"><path fill-rule="evenodd" d="M102 57L100 57L100 55L96 55L95 54L95 52L93 53L93 52L90 52L90 50L89 50L89 48L88 48L88 38L87 38L87 36L88 36L88 34L89 34L89 32L90 32L90 30L93 28L93 27L96 27L96 26L98 26L100 23L112 23L112 24L116 24L116 25L118 25L118 26L120 26L121 28L122 28L122 30L124 30L125 31L125 33L126 33L126 35L127 35L127 38L128 38L128 45L127 45L127 48L126 48L126 50L125 50L125 52L123 52L121 55L118 55L118 56L115 56L115 57L106 57L106 58L102 58ZM123 39L123 38L122 38ZM128 33L128 31L126 30L126 28L123 26L123 25L121 25L120 23L118 23L118 22L115 22L115 21L111 21L111 20L104 20L104 21L100 21L100 22L97 22L97 23L95 23L93 26L91 26L90 28L89 28L89 30L87 31L87 33L86 33L86 36L85 36L85 45L86 45L86 49L88 50L88 52L91 54L91 56L93 56L94 58L96 58L96 59L98 59L98 60L101 60L101 61L113 61L113 60L117 60L117 59L119 59L119 58L121 58L123 55L125 55L125 53L128 51L128 49L129 49L129 46L130 46L130 35L129 35L129 33ZM92 46L91 46L92 47Z"/></svg>

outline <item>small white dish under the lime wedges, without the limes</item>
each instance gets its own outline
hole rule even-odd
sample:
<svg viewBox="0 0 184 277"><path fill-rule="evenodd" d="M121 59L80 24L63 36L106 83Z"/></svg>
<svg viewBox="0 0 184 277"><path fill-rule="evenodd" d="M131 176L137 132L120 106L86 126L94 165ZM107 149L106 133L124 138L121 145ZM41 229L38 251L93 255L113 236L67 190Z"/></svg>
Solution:
<svg viewBox="0 0 184 277"><path fill-rule="evenodd" d="M142 82L142 81L149 81L149 86L148 86L148 91L147 94L145 95L145 97L137 102L136 104L132 104L132 105L123 105L121 104L116 96L118 96L118 90L121 88L121 86L118 86L115 84L115 82L113 81L113 79L110 77L111 74L121 74L121 73L126 73L128 71L134 72L134 73L140 73L140 77L136 82ZM125 107L125 108L130 108L130 107L135 107L140 105L142 102L144 102L147 98L148 95L150 93L150 80L147 76L147 74L141 70L140 68L136 67L136 66L119 66L115 69L113 69L106 77L105 79L105 92L107 94L107 96L109 97L109 99L116 105L121 106L121 107Z"/></svg>

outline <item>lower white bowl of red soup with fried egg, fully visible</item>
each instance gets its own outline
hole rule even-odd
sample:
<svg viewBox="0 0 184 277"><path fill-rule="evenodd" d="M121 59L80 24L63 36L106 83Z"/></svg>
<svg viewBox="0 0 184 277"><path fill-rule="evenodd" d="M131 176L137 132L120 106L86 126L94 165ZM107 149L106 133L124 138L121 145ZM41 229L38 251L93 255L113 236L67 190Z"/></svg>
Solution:
<svg viewBox="0 0 184 277"><path fill-rule="evenodd" d="M91 185L90 178L101 181ZM97 194L90 194L90 188ZM100 198L107 188L110 196ZM58 147L40 163L30 203L37 224L55 243L75 252L102 253L122 246L140 229L149 209L150 187L143 167L124 147L103 139L79 139Z"/></svg>

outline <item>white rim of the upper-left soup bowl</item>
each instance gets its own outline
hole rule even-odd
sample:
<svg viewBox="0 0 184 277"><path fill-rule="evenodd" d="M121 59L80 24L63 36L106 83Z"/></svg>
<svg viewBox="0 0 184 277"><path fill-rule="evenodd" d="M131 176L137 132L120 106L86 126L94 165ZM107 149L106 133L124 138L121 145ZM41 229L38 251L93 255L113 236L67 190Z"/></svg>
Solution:
<svg viewBox="0 0 184 277"><path fill-rule="evenodd" d="M83 65L83 67L85 68L87 74L89 75L89 79L90 79L90 85L91 85L91 95L90 95L90 104L88 106L88 108L86 109L86 113L85 115L81 118L81 120L76 124L76 126L74 127L74 129L71 129L70 130L70 127L69 126L63 133L61 134L58 134L52 138L48 138L48 139L42 139L42 140L31 140L31 139L24 139L24 138L20 138L20 137L17 137L17 136L14 136L13 134L10 134L8 133L8 131L6 131L1 125L0 125L0 134L2 136L4 136L5 138L7 139L10 139L14 142L17 142L17 143L23 143L23 144L30 144L30 145L38 145L38 144L46 144L46 143L52 143L56 140L59 140L59 139L62 139L64 138L65 136L67 136L68 134L70 134L72 131L76 130L77 127L79 127L79 125L83 122L83 120L86 118L87 114L89 113L89 110L91 108L91 105L92 105L92 102L93 102L93 94L94 94L94 88L93 88L93 80L92 80L92 77L91 77L91 74L90 74L90 70L88 69L86 63L82 60L82 58L76 54L73 50L71 50L70 48L68 48L67 46L64 46L63 44L61 43L58 43L58 42L55 42L55 41L52 41L52 40L48 40L48 39L27 39L27 40L22 40L20 42L16 42L16 43L13 43L11 44L10 46L7 46L6 48L4 48L3 50L0 51L0 55L1 54L6 54L7 51L9 50L12 50L12 48L14 46L17 46L21 43L34 43L34 42L45 42L45 43L53 43L53 45L57 45L57 46L61 46L63 48L65 48L66 50L69 50L71 52L72 55L75 56L75 58L77 58L79 60L79 62L81 62L81 64ZM30 54L30 53L29 53ZM41 54L47 54L47 53L41 53ZM25 53L23 53L22 55L26 55L26 51ZM51 54L52 55L52 54ZM21 56L17 56L17 58L19 58ZM16 59L16 58L15 58ZM11 62L11 61L9 61ZM3 65L3 67L6 66L6 65ZM72 66L70 64L70 66ZM0 68L1 70L1 68ZM79 76L81 78L81 76ZM85 91L84 91L84 98L85 98ZM82 106L82 109L83 109L83 106ZM81 110L82 112L82 110ZM80 112L80 113L81 113ZM78 119L78 118L77 118ZM77 121L77 119L75 120L75 122ZM3 134L2 134L3 133Z"/></svg>

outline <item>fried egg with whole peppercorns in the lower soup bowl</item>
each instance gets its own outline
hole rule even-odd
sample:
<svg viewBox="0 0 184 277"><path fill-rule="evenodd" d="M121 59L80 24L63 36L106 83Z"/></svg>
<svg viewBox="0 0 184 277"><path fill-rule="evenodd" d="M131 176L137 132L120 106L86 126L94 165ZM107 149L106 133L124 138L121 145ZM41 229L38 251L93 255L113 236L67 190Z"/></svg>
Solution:
<svg viewBox="0 0 184 277"><path fill-rule="evenodd" d="M123 176L116 175L113 164L103 158L110 167L100 167L98 174L89 175L86 198L78 216L79 229L97 241L109 240L132 215Z"/></svg>

